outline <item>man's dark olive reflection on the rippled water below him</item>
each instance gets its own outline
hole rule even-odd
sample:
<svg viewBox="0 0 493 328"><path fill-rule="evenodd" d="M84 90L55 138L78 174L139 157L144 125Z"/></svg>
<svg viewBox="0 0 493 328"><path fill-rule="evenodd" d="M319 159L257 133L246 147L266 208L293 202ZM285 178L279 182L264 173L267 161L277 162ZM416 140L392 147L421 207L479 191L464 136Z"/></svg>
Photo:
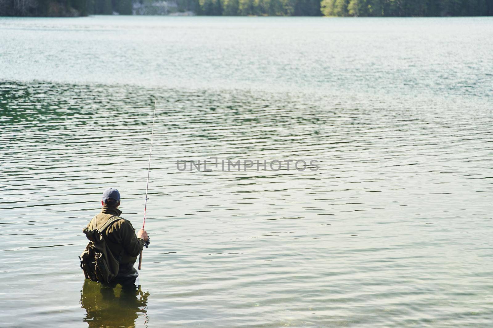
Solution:
<svg viewBox="0 0 493 328"><path fill-rule="evenodd" d="M143 293L141 286L105 286L85 279L80 297L80 303L87 312L83 321L89 327L135 327L135 320L144 316L147 323L148 297L149 293Z"/></svg>

